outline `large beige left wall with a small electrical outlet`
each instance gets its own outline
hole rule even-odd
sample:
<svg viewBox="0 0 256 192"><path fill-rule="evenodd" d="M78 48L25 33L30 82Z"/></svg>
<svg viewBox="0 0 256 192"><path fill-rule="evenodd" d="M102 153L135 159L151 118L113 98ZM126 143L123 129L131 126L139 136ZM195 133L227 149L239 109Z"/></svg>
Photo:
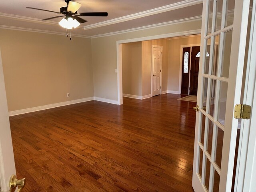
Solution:
<svg viewBox="0 0 256 192"><path fill-rule="evenodd" d="M4 29L0 34L9 111L94 96L90 39Z"/></svg>

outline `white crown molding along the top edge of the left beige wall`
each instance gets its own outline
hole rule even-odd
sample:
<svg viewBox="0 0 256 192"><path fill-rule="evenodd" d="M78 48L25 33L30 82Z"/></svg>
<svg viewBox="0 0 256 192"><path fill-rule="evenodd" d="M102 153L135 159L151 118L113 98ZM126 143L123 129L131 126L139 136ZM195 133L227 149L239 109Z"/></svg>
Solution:
<svg viewBox="0 0 256 192"><path fill-rule="evenodd" d="M48 31L48 30L40 30L40 29L31 29L31 28L23 28L23 27L14 27L14 26L6 26L6 25L0 25L0 29L28 31L28 32L38 32L38 33L46 33L46 34L54 34L54 35L66 36L66 33L64 33L64 32L56 32L56 31ZM80 34L73 34L73 33L72 33L72 37L91 38L88 35L80 35Z"/></svg>

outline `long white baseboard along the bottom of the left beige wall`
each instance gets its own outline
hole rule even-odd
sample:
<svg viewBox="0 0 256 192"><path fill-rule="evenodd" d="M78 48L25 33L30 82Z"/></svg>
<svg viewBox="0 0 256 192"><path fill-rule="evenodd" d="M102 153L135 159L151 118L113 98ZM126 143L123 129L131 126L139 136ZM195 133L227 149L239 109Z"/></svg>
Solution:
<svg viewBox="0 0 256 192"><path fill-rule="evenodd" d="M40 111L40 110L65 106L65 105L71 105L71 104L76 104L76 103L82 103L82 102L92 101L92 100L94 100L94 97L88 97L88 98L76 99L76 100L72 100L72 101L65 101L65 102L60 102L60 103L44 105L44 106L38 106L38 107L32 107L32 108L21 109L21 110L16 110L16 111L10 111L10 112L8 112L8 114L9 114L9 116L14 116L14 115L20 115L20 114L24 114L24 113L30 113L30 112L35 112L35 111Z"/></svg>

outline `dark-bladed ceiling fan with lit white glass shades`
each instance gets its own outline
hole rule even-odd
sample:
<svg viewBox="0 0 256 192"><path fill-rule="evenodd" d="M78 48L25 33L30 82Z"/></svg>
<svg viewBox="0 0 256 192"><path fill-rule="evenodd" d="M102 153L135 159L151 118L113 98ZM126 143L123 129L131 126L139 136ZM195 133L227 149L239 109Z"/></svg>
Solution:
<svg viewBox="0 0 256 192"><path fill-rule="evenodd" d="M45 10L45 9L39 9L39 8L33 8L33 7L26 7L26 8L61 14L60 16L55 16L55 17L42 19L42 21L50 20L50 19L54 19L54 18L65 17L59 22L59 24L60 24L60 26L66 28L66 29L76 28L81 23L87 22L86 20L80 18L79 16L103 16L103 17L108 16L108 12L83 12L83 13L78 13L77 10L82 6L82 4L80 4L78 2L75 2L75 1L71 1L71 0L65 0L65 2L67 3L67 6L61 7L60 12L50 11L50 10ZM67 33L67 36L68 36L68 33ZM70 40L71 40L71 37L70 37Z"/></svg>

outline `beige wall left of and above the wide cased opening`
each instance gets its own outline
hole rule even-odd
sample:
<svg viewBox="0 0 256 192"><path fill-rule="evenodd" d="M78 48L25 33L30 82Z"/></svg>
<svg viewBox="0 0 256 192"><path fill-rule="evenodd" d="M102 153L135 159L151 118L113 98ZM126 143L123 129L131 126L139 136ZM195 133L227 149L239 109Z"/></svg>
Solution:
<svg viewBox="0 0 256 192"><path fill-rule="evenodd" d="M124 34L92 38L94 96L115 101L118 100L117 74L115 73L115 69L117 68L116 41L170 34L188 30L198 30L200 28L201 21L199 20L152 28L149 30L140 30ZM172 73L170 74L172 75Z"/></svg>

